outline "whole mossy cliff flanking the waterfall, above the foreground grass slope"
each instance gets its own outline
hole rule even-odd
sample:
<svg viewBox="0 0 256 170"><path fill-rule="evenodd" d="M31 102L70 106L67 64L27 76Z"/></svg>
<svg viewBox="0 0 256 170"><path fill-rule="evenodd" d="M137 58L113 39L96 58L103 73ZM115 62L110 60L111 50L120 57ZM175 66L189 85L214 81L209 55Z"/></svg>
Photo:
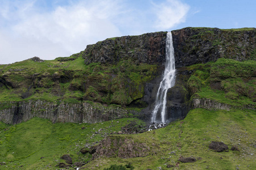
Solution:
<svg viewBox="0 0 256 170"><path fill-rule="evenodd" d="M17 123L39 116L53 122L101 122L133 116L127 114L133 110L148 121L164 70L166 33L106 39L52 61L34 57L0 65L1 120ZM255 28L172 31L177 69L176 84L167 93L167 119L185 117L195 108L193 99L254 109L255 34ZM47 111L44 104L33 111L30 103L39 101L48 103Z"/></svg>

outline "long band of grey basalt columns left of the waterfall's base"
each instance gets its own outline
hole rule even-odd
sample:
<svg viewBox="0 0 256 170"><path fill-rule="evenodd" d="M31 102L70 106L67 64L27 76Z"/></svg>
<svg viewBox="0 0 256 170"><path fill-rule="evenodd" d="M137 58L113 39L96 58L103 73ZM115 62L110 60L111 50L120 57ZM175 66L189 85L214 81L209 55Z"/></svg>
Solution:
<svg viewBox="0 0 256 170"><path fill-rule="evenodd" d="M46 101L20 101L13 102L11 108L0 111L0 121L6 124L18 124L33 117L47 118L55 122L90 123L115 120L129 117L129 114L138 114L122 108L106 108L102 105L89 103L53 104Z"/></svg>

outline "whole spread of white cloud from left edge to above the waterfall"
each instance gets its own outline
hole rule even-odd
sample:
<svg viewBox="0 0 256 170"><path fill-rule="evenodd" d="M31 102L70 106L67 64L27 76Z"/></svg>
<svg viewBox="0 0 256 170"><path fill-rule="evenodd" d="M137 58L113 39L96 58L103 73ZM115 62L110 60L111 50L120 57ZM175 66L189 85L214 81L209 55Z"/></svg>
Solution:
<svg viewBox="0 0 256 170"><path fill-rule="evenodd" d="M108 37L170 29L184 22L189 9L177 0L160 5L143 1L143 10L121 0L78 0L62 6L56 1L51 10L36 0L0 2L0 63L69 56Z"/></svg>

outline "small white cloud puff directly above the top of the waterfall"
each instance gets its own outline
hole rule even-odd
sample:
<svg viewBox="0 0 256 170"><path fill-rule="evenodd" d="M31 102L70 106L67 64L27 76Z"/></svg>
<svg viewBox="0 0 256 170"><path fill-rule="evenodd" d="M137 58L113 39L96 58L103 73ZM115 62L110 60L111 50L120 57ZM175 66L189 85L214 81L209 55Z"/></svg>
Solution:
<svg viewBox="0 0 256 170"><path fill-rule="evenodd" d="M177 0L168 0L155 6L157 16L155 27L159 29L172 28L179 23L185 22L189 6Z"/></svg>

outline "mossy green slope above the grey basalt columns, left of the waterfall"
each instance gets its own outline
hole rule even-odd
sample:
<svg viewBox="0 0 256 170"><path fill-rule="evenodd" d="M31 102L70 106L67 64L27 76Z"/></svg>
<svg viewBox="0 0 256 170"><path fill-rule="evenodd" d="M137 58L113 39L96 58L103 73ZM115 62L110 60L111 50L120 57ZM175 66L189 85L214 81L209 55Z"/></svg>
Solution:
<svg viewBox="0 0 256 170"><path fill-rule="evenodd" d="M113 65L85 65L79 54L68 58L73 60L56 58L34 62L27 59L0 65L0 75L15 86L11 88L0 83L0 102L40 99L80 103L90 100L108 105L128 105L143 96L142 84L154 78L158 71L156 65L136 65L130 60L121 60ZM56 80L56 76L60 78ZM26 92L29 95L23 99Z"/></svg>

